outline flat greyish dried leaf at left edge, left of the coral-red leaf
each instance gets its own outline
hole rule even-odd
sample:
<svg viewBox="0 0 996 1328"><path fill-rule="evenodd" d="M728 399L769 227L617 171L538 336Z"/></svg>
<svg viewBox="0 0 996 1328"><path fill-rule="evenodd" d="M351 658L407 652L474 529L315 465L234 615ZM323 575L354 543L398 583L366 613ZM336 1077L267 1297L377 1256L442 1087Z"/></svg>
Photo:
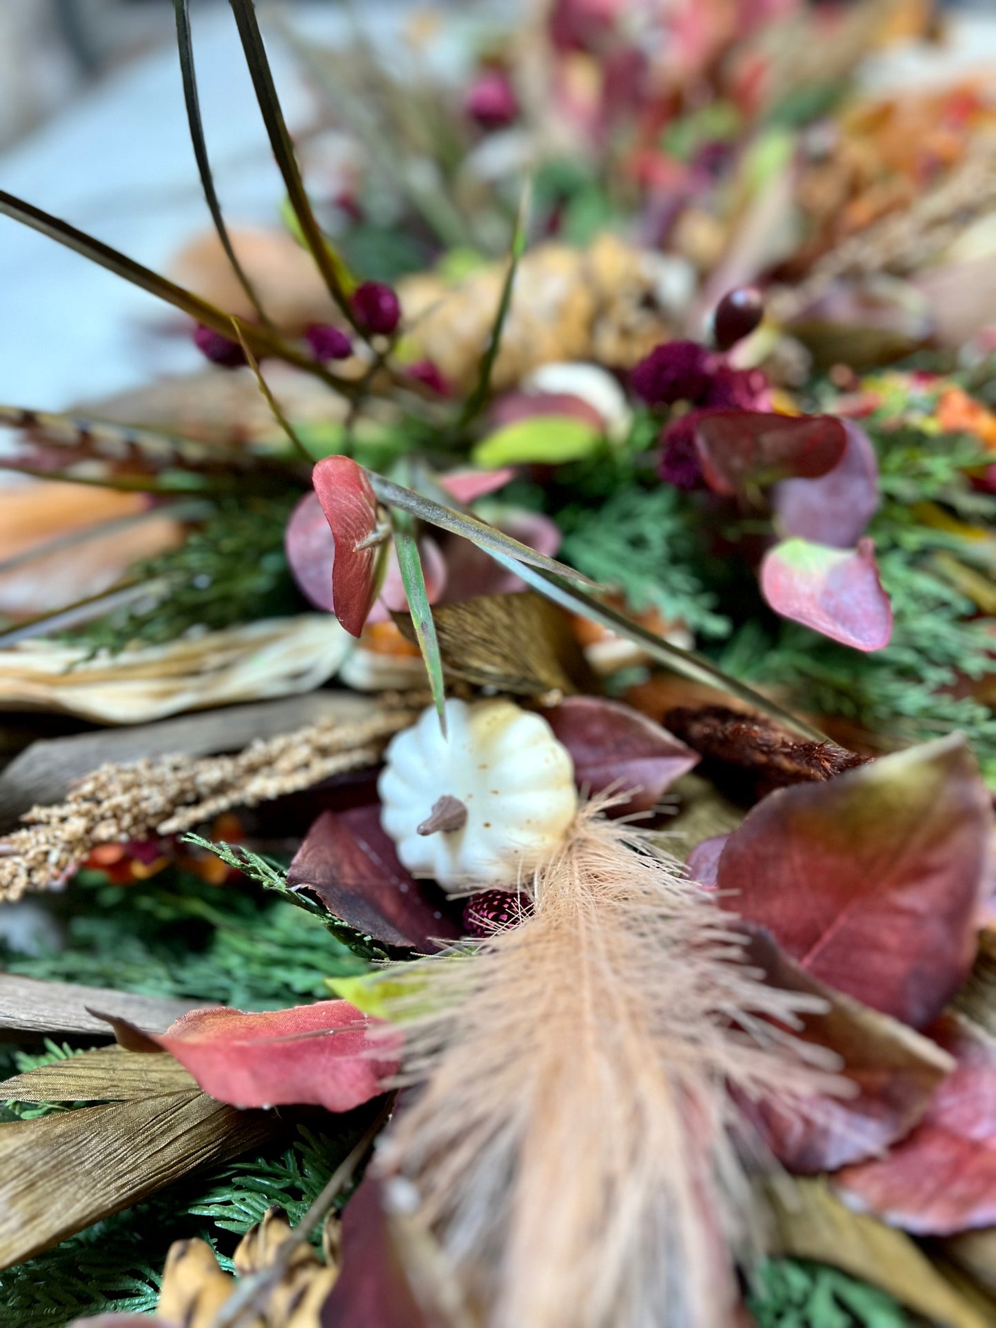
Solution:
<svg viewBox="0 0 996 1328"><path fill-rule="evenodd" d="M108 1025L90 1013L93 1007L161 1031L187 1011L197 1009L198 1001L0 973L0 1028L25 1033L98 1033L106 1037Z"/></svg>

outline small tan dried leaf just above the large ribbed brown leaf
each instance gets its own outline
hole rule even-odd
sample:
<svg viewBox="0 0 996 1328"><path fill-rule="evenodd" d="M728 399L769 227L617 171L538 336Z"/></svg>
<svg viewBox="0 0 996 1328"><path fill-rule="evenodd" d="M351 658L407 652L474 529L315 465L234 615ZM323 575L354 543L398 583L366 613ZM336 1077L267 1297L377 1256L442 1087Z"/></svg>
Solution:
<svg viewBox="0 0 996 1328"><path fill-rule="evenodd" d="M0 1101L11 1102L131 1102L185 1092L197 1092L197 1084L171 1056L121 1046L97 1046L0 1082Z"/></svg>

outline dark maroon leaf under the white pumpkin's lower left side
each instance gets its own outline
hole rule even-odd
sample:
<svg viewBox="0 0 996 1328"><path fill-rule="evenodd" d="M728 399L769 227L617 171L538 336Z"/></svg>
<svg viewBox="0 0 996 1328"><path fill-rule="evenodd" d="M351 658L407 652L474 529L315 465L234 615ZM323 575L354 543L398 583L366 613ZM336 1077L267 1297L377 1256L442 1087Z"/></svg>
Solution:
<svg viewBox="0 0 996 1328"><path fill-rule="evenodd" d="M336 918L385 946L432 954L461 935L442 891L416 880L398 862L378 806L324 811L297 850L287 883L313 891Z"/></svg>

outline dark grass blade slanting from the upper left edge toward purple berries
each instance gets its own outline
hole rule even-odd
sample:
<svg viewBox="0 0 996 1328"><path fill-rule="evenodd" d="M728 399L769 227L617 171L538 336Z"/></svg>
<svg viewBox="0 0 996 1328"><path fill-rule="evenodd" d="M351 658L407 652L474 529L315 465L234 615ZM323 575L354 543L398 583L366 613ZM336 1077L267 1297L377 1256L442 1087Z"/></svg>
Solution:
<svg viewBox="0 0 996 1328"><path fill-rule="evenodd" d="M77 254L88 258L92 263L98 263L101 267L106 267L108 271L114 272L116 276L124 278L126 282L130 282L133 286L138 286L141 290L147 291L149 295L154 295L159 300L165 300L174 308L182 309L183 313L187 313L197 323L203 323L205 327L214 328L214 331L220 332L222 336L231 336L230 313L224 313L215 304L208 304L207 300L202 300L201 296L194 295L193 291L187 291L182 286L177 286L175 282L170 282L167 278L159 276L159 274L153 272L151 268L143 267L141 263L135 263L134 259L127 258L116 248L112 248L110 244L105 244L104 240L94 239L93 235L88 235L85 231L78 231L74 226L61 220L58 216L52 216L49 212L44 212L40 207L35 207L32 203L25 203L24 199L16 198L5 190L0 190L0 214L12 216L16 222L23 222L32 230L39 231L39 234L46 235L49 239L57 240L60 244L65 244L66 248L74 250ZM287 360L288 364L296 364L300 369L316 373L332 386L341 389L341 384L337 378L325 373L321 367L315 363L315 360L286 343L282 337L275 336L270 329L259 327L258 324L243 321L240 321L239 325L242 327L246 340L252 347L256 356L275 355L280 360Z"/></svg>

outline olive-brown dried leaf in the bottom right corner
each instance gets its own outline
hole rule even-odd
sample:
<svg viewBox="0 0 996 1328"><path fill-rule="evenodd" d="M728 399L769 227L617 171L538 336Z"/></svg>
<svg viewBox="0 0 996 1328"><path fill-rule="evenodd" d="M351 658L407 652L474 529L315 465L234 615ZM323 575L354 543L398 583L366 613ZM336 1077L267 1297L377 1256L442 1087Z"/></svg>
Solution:
<svg viewBox="0 0 996 1328"><path fill-rule="evenodd" d="M772 1194L772 1254L814 1259L879 1287L915 1313L946 1328L992 1328L914 1242L846 1208L823 1181L798 1181Z"/></svg>

